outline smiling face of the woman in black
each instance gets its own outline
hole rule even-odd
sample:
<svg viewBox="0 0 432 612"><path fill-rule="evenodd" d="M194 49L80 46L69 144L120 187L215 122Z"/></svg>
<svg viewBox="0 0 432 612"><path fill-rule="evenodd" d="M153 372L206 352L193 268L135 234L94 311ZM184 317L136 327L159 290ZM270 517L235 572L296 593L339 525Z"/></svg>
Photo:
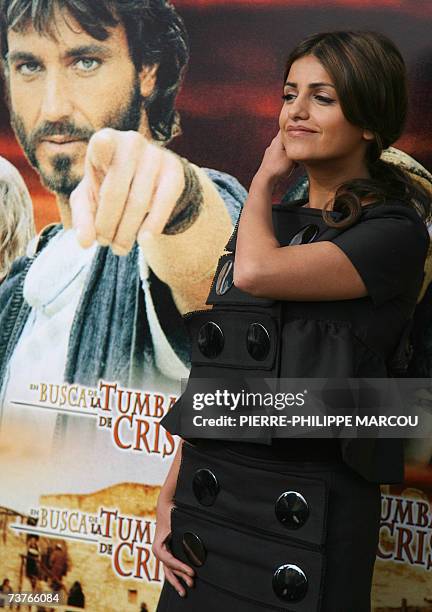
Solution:
<svg viewBox="0 0 432 612"><path fill-rule="evenodd" d="M344 117L333 79L313 55L291 66L279 126L288 157L306 165L351 156L362 163L367 142L374 138Z"/></svg>

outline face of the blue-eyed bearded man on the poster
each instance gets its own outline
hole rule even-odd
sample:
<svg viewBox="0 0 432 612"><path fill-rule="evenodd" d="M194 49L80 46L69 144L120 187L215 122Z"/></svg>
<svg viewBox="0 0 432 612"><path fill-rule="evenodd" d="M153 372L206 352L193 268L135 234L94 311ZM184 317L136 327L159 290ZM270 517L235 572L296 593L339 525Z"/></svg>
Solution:
<svg viewBox="0 0 432 612"><path fill-rule="evenodd" d="M138 130L138 73L119 25L99 41L61 15L53 36L31 25L9 31L12 125L30 163L52 191L70 195L81 180L87 143L103 127Z"/></svg>

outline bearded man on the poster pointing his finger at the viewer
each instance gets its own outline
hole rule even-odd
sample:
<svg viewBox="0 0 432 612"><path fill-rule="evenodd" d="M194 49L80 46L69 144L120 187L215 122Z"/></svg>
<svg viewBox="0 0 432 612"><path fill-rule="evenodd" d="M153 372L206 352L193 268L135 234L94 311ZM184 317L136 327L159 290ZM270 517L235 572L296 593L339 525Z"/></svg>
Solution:
<svg viewBox="0 0 432 612"><path fill-rule="evenodd" d="M181 18L165 0L0 10L12 126L62 221L1 288L3 402L41 380L186 377L182 315L205 307L245 191L163 146L179 133Z"/></svg>

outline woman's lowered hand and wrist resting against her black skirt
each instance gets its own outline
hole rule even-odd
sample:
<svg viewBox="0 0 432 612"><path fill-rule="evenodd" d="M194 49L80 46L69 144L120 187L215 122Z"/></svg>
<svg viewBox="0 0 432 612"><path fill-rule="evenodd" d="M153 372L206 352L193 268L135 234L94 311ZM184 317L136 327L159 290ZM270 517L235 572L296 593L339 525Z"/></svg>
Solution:
<svg viewBox="0 0 432 612"><path fill-rule="evenodd" d="M156 533L153 541L152 552L162 562L165 578L175 588L177 593L184 597L186 590L181 584L180 577L188 585L193 587L194 570L174 557L169 549L171 536L171 511L174 508L172 501L159 497L156 510Z"/></svg>

